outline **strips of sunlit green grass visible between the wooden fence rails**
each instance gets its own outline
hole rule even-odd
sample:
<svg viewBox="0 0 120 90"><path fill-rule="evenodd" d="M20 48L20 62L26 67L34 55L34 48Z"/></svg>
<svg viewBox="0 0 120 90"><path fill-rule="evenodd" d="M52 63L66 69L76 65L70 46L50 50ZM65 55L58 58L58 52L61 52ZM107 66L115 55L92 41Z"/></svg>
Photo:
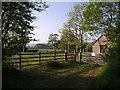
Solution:
<svg viewBox="0 0 120 90"><path fill-rule="evenodd" d="M41 56L54 56L54 51L53 49L42 49L41 53L48 53L48 54L41 54ZM49 50L49 52L48 52ZM49 54L53 51L53 54ZM61 50L56 50L56 51L61 51ZM39 57L38 52L21 52L22 54L36 54L36 55L21 55L21 57ZM56 54L56 55L64 55L64 53ZM9 58L19 58L19 55L13 55ZM64 57L64 56L62 56ZM62 58L61 56L56 57L56 58ZM43 59L54 59L54 57L42 57L41 60ZM39 60L39 58L26 58L26 59L21 59L21 61L31 61L31 60ZM59 59L58 61L63 61L63 59ZM13 60L7 60L7 62L19 62L19 59L13 59ZM42 61L41 63L44 63L46 61ZM24 62L21 65L28 65L28 64L39 64L38 62ZM19 66L19 63L14 63L14 66Z"/></svg>

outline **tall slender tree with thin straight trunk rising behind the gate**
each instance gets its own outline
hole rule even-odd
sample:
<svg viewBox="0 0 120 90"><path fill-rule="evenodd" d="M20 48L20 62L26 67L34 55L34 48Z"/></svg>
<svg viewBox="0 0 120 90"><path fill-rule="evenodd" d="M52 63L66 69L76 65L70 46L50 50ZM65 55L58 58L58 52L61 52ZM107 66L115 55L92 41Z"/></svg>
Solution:
<svg viewBox="0 0 120 90"><path fill-rule="evenodd" d="M88 29L85 28L83 16L83 12L86 9L86 4L87 3L76 4L74 6L74 10L68 13L68 16L70 17L70 28L74 31L74 35L78 39L78 42L76 43L76 49L79 48L80 50L80 62L82 59L82 53L84 48L84 37L87 35L88 31Z"/></svg>

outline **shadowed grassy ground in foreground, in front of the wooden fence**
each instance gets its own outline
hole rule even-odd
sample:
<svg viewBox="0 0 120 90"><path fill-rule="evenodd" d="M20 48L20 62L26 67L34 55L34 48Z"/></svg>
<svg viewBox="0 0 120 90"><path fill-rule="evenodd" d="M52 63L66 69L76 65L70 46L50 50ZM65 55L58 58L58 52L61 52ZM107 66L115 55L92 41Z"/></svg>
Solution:
<svg viewBox="0 0 120 90"><path fill-rule="evenodd" d="M102 67L95 64L61 62L60 67L3 68L3 88L94 88Z"/></svg>

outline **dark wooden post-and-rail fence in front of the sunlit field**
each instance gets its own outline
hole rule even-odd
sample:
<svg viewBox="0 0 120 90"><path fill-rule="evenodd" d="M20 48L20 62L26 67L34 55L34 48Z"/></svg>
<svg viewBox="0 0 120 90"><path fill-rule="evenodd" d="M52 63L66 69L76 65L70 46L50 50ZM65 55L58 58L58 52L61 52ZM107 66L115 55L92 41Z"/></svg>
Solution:
<svg viewBox="0 0 120 90"><path fill-rule="evenodd" d="M17 57L15 57L17 56ZM15 66L19 67L20 69L25 66L33 66L33 65L40 65L42 62L45 61L69 61L75 60L76 57L73 53L67 53L63 51L54 51L54 52L47 52L47 53L19 53L14 55L13 57L6 58L4 61L8 61L8 64L14 64ZM31 64L30 64L31 63Z"/></svg>

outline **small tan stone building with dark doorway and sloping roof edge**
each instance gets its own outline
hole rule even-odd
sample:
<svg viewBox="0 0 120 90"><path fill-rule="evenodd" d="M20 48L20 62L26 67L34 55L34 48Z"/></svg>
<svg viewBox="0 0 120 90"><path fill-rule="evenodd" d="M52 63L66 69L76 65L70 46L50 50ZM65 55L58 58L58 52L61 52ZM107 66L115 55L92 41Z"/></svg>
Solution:
<svg viewBox="0 0 120 90"><path fill-rule="evenodd" d="M107 47L107 38L105 35L101 35L95 42L92 44L92 52L95 54L104 53Z"/></svg>

